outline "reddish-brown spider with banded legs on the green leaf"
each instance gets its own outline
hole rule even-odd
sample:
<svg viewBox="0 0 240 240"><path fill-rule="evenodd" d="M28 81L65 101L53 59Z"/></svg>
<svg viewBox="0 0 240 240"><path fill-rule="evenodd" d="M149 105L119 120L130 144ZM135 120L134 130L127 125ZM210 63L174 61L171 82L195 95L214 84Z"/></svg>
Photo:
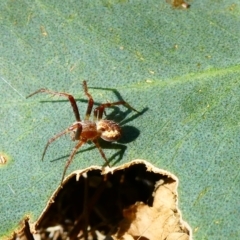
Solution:
<svg viewBox="0 0 240 240"><path fill-rule="evenodd" d="M100 147L99 143L98 143L98 138L102 138L105 141L108 142L113 142L113 141L117 141L119 140L119 138L121 137L121 127L115 123L114 121L110 121L110 120L106 120L106 119L102 119L103 117L103 113L105 108L111 107L111 106L116 106L116 105L124 105L130 109L132 109L133 111L138 112L136 109L134 109L133 107L131 107L127 102L125 101L118 101L118 102L113 102L113 103L104 103L101 104L100 106L96 107L94 109L94 117L93 117L93 121L89 120L89 117L91 115L92 112L92 108L93 108L93 98L91 96L91 94L88 92L88 87L87 87L87 82L83 81L83 90L85 95L88 97L88 107L87 107L87 111L86 111L86 115L84 120L82 121L80 118L80 114L78 111L78 107L76 104L76 100L74 99L74 97L71 94L68 93L64 93L64 92L54 92L45 88L41 88L39 90L37 90L36 92L28 95L26 98L29 98L37 93L40 92L46 92L52 95L58 95L58 96L64 96L67 97L72 105L73 108L73 112L75 114L75 118L76 118L76 122L73 123L70 127L68 127L67 129L65 129L64 131L56 134L54 137L50 138L47 142L47 145L44 148L43 151L43 155L42 155L42 160L45 156L45 153L47 151L48 146L55 141L56 139L58 139L59 137L61 137L64 134L67 133L73 133L73 137L72 140L73 141L78 141L78 143L75 145L75 147L73 148L63 171L63 176L62 176L62 180L61 180L61 184L63 182L64 176L66 174L67 168L69 167L70 163L73 160L73 157L75 156L77 150L86 142L88 141L92 141L96 147L98 148L101 156L103 157L103 159L106 161L106 164L109 166L109 162L102 150L102 148Z"/></svg>

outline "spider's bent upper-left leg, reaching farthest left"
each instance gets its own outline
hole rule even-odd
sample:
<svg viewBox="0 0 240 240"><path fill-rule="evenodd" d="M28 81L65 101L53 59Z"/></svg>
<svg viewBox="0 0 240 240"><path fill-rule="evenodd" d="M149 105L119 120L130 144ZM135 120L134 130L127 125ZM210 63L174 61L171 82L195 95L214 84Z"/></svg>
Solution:
<svg viewBox="0 0 240 240"><path fill-rule="evenodd" d="M57 96L67 97L68 100L70 101L71 105L72 105L72 109L73 109L76 121L77 122L81 121L76 100L75 100L75 98L72 95L70 95L68 93L64 93L64 92L54 92L54 91L51 91L51 90L48 90L48 89L45 89L45 88L40 88L36 92L28 95L26 98L32 97L33 95L35 95L37 93L40 93L40 92L46 92L46 93L52 94L54 96L57 95Z"/></svg>

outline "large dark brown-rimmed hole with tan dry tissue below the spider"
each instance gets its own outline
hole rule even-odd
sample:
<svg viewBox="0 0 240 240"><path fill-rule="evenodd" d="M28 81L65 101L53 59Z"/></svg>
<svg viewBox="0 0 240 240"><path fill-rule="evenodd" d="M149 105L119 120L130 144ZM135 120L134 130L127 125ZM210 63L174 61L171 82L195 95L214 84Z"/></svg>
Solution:
<svg viewBox="0 0 240 240"><path fill-rule="evenodd" d="M32 227L39 239L191 239L178 209L177 186L173 174L144 160L78 170Z"/></svg>

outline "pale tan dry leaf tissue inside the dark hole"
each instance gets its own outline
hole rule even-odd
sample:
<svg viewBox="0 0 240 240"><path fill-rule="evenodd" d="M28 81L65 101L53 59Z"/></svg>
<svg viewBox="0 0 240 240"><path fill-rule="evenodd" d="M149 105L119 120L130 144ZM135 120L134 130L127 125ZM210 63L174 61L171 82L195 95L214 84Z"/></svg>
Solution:
<svg viewBox="0 0 240 240"><path fill-rule="evenodd" d="M176 182L157 182L153 206L137 202L125 209L114 239L190 239L177 209L176 190Z"/></svg>

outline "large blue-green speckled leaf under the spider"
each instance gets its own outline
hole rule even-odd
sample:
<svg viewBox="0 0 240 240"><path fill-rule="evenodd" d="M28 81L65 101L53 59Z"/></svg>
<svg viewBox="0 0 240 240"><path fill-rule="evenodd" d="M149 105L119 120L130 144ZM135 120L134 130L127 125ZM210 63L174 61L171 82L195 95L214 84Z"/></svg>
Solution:
<svg viewBox="0 0 240 240"><path fill-rule="evenodd" d="M0 9L0 154L8 160L0 237L26 215L37 220L74 146L63 137L40 161L46 141L75 119L66 99L25 96L41 87L69 92L83 117L86 79L96 103L118 101L117 89L142 111L123 120L140 134L124 137L120 161L119 149L104 149L111 164L141 158L174 173L194 238L239 239L239 3L2 1ZM86 145L67 173L103 164Z"/></svg>

